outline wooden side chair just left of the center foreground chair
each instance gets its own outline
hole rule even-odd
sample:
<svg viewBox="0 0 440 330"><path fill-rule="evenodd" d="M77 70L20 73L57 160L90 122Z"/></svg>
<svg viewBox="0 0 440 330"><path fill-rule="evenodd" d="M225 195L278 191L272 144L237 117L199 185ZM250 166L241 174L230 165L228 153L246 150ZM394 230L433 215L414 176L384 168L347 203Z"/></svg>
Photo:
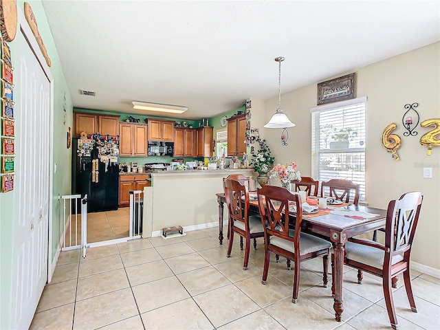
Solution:
<svg viewBox="0 0 440 330"><path fill-rule="evenodd" d="M243 270L248 270L251 239L254 239L256 250L256 239L264 236L263 223L259 215L250 215L249 190L245 184L237 180L226 179L223 183L225 199L228 205L229 221L229 245L226 256L230 258L234 233L245 239L245 257ZM243 241L240 241L240 248L243 250Z"/></svg>

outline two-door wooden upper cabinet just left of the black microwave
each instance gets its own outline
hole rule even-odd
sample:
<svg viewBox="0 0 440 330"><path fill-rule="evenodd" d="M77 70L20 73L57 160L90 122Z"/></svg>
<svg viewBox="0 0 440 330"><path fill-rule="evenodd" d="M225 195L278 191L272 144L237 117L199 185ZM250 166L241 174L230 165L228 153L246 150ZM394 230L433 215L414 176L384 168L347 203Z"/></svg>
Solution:
<svg viewBox="0 0 440 330"><path fill-rule="evenodd" d="M119 155L124 156L146 156L147 155L147 125L131 122L119 124L120 141Z"/></svg>

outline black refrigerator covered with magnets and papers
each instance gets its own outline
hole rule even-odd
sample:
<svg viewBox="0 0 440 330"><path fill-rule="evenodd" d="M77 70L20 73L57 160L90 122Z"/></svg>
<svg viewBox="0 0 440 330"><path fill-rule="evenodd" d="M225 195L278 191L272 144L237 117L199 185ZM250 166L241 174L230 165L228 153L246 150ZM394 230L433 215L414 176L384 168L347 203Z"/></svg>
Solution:
<svg viewBox="0 0 440 330"><path fill-rule="evenodd" d="M87 194L87 212L102 212L118 210L118 193L119 141L72 139L72 195Z"/></svg>

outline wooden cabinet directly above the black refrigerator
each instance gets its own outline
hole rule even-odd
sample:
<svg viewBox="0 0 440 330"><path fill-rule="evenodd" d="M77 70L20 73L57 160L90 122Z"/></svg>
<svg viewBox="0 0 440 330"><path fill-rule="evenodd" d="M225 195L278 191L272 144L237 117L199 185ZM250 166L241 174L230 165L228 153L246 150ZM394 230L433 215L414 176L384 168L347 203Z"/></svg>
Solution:
<svg viewBox="0 0 440 330"><path fill-rule="evenodd" d="M74 137L81 132L91 135L100 133L116 137L119 135L119 115L98 115L97 113L74 112Z"/></svg>

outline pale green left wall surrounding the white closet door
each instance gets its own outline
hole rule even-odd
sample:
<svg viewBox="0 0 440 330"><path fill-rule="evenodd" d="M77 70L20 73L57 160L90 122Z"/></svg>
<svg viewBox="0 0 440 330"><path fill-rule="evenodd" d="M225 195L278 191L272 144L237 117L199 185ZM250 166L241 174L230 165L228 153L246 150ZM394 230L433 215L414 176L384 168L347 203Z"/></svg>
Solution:
<svg viewBox="0 0 440 330"><path fill-rule="evenodd" d="M60 202L58 201L58 194L68 195L70 193L70 179L71 179L71 149L67 149L67 130L72 127L72 100L69 96L67 84L63 74L58 53L50 32L49 25L43 9L41 1L27 1L32 6L36 21L38 23L39 32L45 43L47 54L49 54L52 61L52 67L50 72L54 78L54 112L51 114L54 118L54 148L52 149L54 163L57 164L57 173L53 175L53 194L50 197L52 200L52 258L56 253L56 248L60 241ZM23 12L24 1L17 1L17 8ZM19 32L19 26L17 26L17 34ZM14 77L20 76L19 54L17 54L17 43L12 41L8 43L11 55L12 65L14 66ZM18 85L14 87L14 115L16 124L22 115L19 103L20 89ZM63 111L63 98L66 101L66 123L64 124L64 111ZM47 122L45 126L41 127L42 130L50 129L50 123ZM61 138L60 138L61 137ZM16 153L20 148L19 144L15 145ZM21 159L16 157L17 162ZM21 173L16 170L16 180L21 179ZM12 250L14 245L14 219L17 217L16 203L19 196L17 196L17 190L12 190L7 193L0 193L0 256L1 256L1 270L0 270L0 329L11 329L12 320L11 311L15 303L15 296L11 292L12 283L12 270L14 263L16 262L15 251ZM51 210L50 210L51 211Z"/></svg>

